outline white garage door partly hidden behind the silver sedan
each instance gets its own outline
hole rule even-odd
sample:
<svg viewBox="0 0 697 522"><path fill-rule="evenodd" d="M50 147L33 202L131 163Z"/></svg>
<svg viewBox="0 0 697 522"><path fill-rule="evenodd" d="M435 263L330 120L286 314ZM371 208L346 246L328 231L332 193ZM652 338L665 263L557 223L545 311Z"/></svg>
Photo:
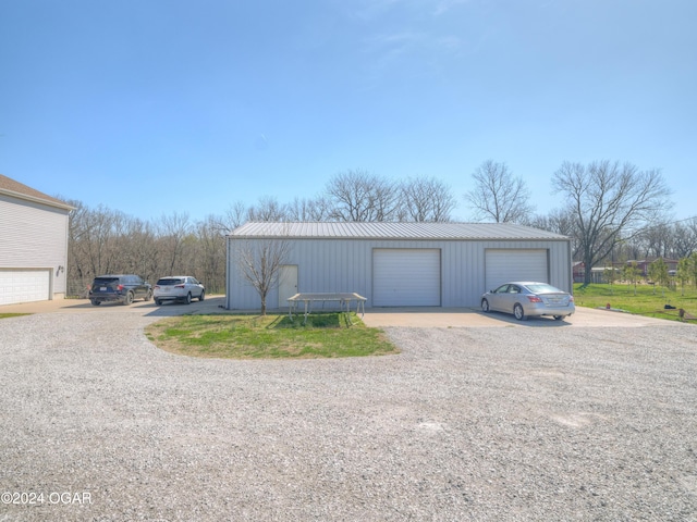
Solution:
<svg viewBox="0 0 697 522"><path fill-rule="evenodd" d="M486 252L486 290L510 281L549 283L545 249L489 249Z"/></svg>

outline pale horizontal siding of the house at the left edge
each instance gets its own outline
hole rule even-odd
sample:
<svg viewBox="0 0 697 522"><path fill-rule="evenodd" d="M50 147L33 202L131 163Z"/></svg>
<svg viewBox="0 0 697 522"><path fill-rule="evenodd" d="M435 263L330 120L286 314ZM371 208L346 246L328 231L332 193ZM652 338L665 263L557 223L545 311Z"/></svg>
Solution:
<svg viewBox="0 0 697 522"><path fill-rule="evenodd" d="M68 226L68 210L0 195L0 266L50 268L53 294L64 294Z"/></svg>

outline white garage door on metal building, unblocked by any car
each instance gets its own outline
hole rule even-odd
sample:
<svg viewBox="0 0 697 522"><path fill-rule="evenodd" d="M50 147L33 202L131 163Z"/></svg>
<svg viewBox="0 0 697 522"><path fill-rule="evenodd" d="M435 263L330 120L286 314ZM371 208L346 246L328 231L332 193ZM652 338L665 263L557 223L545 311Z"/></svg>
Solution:
<svg viewBox="0 0 697 522"><path fill-rule="evenodd" d="M375 307L440 307L440 250L372 251Z"/></svg>

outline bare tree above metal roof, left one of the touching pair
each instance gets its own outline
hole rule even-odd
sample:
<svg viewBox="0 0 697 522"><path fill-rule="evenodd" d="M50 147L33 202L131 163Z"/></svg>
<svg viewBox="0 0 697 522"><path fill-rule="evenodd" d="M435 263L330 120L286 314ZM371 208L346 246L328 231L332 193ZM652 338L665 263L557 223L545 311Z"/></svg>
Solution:
<svg viewBox="0 0 697 522"><path fill-rule="evenodd" d="M335 221L392 221L399 195L394 183L365 171L339 173L327 186L329 215Z"/></svg>

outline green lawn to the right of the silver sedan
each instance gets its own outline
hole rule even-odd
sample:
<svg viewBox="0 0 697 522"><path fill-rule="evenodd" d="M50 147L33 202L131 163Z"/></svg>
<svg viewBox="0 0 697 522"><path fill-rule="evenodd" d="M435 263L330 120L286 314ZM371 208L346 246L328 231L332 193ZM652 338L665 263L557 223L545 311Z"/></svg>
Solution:
<svg viewBox="0 0 697 522"><path fill-rule="evenodd" d="M590 284L574 285L574 301L577 307L611 308L626 310L650 318L680 321L678 309L697 315L697 290L694 288L662 288L651 285ZM665 304L675 307L667 310Z"/></svg>

